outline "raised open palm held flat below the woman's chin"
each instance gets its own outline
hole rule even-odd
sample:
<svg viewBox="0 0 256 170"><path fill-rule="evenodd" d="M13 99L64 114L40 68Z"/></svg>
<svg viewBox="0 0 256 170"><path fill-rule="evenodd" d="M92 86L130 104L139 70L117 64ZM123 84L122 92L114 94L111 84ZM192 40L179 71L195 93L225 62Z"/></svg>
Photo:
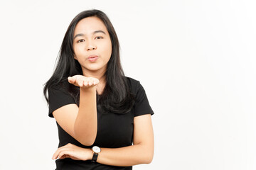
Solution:
<svg viewBox="0 0 256 170"><path fill-rule="evenodd" d="M68 82L79 87L90 87L100 83L100 81L94 77L84 77L82 75L68 77Z"/></svg>

